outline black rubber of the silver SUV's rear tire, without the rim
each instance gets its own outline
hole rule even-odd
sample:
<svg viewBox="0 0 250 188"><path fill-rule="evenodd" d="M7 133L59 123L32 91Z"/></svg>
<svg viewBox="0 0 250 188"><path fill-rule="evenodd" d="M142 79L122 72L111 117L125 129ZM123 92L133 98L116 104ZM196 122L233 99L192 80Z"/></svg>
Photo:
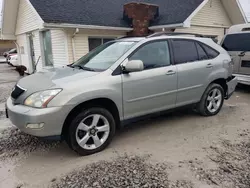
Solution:
<svg viewBox="0 0 250 188"><path fill-rule="evenodd" d="M213 91L214 89L218 89L221 92L222 97L221 97L221 104L220 104L219 108L216 111L211 112L208 110L208 107L207 107L207 99L208 99L211 91ZM204 94L201 98L201 101L197 105L197 111L202 116L214 116L220 112L220 110L223 106L223 103L224 103L224 98L225 98L225 91L222 88L222 86L219 84L212 83L207 87L206 91L204 92Z"/></svg>

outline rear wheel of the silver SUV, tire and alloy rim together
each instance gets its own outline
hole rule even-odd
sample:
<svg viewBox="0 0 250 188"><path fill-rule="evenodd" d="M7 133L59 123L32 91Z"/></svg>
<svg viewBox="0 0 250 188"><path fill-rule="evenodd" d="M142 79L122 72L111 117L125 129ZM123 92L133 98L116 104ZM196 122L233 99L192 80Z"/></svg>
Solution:
<svg viewBox="0 0 250 188"><path fill-rule="evenodd" d="M210 84L204 92L197 111L202 116L214 116L218 114L223 106L225 92L221 85Z"/></svg>

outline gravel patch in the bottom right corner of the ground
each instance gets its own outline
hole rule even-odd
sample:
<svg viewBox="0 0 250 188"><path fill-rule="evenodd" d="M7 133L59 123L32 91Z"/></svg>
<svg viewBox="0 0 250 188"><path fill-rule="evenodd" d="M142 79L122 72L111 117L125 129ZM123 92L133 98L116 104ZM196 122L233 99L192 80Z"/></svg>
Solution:
<svg viewBox="0 0 250 188"><path fill-rule="evenodd" d="M232 143L223 140L218 146L208 150L209 159L215 162L217 168L206 169L200 161L189 161L196 178L209 185L225 188L250 187L250 139L249 131L239 134L243 141Z"/></svg>

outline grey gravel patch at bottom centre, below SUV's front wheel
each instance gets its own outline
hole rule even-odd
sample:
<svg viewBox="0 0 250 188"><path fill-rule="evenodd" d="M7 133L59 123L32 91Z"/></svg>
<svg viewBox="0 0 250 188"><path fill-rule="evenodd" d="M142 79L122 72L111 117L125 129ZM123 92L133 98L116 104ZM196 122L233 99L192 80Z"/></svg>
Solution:
<svg viewBox="0 0 250 188"><path fill-rule="evenodd" d="M170 182L165 164L149 164L148 157L123 156L114 161L100 161L75 170L59 180L52 188L192 188L188 181Z"/></svg>

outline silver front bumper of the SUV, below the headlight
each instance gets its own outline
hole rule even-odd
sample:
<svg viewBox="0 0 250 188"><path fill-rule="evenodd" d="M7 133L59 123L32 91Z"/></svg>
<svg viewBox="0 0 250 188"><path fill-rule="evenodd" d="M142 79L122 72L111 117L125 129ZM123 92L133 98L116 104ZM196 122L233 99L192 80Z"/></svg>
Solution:
<svg viewBox="0 0 250 188"><path fill-rule="evenodd" d="M69 106L37 109L24 105L13 105L7 100L6 111L10 121L22 132L37 137L53 137L62 133ZM40 129L27 128L28 124L44 124Z"/></svg>

